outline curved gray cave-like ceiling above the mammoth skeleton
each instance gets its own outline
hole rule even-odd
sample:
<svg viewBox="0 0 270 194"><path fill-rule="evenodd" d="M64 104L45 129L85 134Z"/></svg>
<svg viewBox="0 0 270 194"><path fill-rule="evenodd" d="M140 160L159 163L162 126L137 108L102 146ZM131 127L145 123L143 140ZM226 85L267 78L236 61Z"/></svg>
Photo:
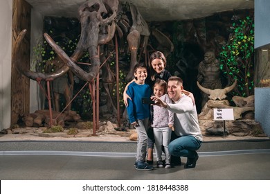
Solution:
<svg viewBox="0 0 270 194"><path fill-rule="evenodd" d="M44 16L78 17L86 0L25 0ZM123 0L134 3L146 21L208 17L217 12L254 8L254 0Z"/></svg>

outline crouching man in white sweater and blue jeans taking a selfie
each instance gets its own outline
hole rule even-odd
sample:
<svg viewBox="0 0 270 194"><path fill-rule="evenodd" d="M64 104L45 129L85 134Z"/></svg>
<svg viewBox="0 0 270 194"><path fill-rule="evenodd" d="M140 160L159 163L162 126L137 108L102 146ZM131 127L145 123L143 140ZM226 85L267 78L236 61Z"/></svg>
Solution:
<svg viewBox="0 0 270 194"><path fill-rule="evenodd" d="M191 98L182 94L183 80L172 76L168 80L168 95L172 104L165 103L158 97L152 97L155 105L165 107L174 113L174 133L176 138L171 140L168 149L171 155L187 157L184 168L195 168L199 156L196 150L201 147L203 137L199 128L196 106Z"/></svg>

